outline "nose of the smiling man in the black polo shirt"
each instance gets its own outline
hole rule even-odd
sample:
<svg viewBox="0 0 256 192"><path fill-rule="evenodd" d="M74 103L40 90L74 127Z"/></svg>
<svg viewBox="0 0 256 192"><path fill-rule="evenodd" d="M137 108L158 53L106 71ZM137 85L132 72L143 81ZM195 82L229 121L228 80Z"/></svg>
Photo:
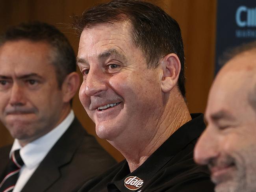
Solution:
<svg viewBox="0 0 256 192"><path fill-rule="evenodd" d="M98 96L107 89L106 74L102 70L90 69L81 87L87 96Z"/></svg>

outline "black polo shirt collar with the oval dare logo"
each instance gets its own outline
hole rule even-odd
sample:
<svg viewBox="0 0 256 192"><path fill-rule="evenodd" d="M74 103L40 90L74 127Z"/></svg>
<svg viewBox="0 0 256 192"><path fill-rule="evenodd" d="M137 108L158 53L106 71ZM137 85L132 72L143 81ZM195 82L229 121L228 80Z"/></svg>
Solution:
<svg viewBox="0 0 256 192"><path fill-rule="evenodd" d="M165 164L170 161L178 151L182 150L189 142L200 136L204 130L205 124L203 114L191 114L192 120L181 126L171 135L148 159L141 164L136 170L130 173L127 161L121 170L115 175L111 183L108 183L108 188L118 188L121 192L131 192L124 186L124 182L128 179L134 183L143 181L141 188L136 191L143 190L143 186L150 180ZM193 129L193 131L191 131ZM190 130L190 131L189 131ZM172 147L175 146L175 147ZM161 159L159 159L161 158ZM127 175L128 174L128 175Z"/></svg>

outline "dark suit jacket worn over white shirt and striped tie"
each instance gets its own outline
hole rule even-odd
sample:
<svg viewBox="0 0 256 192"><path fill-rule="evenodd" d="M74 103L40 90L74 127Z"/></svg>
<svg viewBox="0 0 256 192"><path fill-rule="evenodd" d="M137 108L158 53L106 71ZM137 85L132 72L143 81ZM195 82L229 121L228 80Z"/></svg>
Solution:
<svg viewBox="0 0 256 192"><path fill-rule="evenodd" d="M11 146L0 148L0 175L9 161ZM21 192L72 192L115 164L75 118Z"/></svg>

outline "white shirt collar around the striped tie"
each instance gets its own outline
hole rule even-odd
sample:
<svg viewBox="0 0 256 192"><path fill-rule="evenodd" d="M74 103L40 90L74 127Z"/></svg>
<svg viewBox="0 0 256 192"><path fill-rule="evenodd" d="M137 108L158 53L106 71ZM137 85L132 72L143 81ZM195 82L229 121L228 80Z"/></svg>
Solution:
<svg viewBox="0 0 256 192"><path fill-rule="evenodd" d="M21 147L18 139L15 138L9 156L11 157L13 151L20 149L20 156L25 166L28 169L34 168L43 161L47 153L69 128L73 120L74 111L71 110L69 115L57 127L52 129L52 131L26 144L24 147Z"/></svg>

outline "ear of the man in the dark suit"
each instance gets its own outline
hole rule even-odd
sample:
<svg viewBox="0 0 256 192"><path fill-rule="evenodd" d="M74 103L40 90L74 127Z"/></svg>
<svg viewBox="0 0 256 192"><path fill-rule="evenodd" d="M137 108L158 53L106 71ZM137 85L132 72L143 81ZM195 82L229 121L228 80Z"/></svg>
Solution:
<svg viewBox="0 0 256 192"><path fill-rule="evenodd" d="M62 84L63 102L69 102L78 90L80 78L77 72L68 74Z"/></svg>

